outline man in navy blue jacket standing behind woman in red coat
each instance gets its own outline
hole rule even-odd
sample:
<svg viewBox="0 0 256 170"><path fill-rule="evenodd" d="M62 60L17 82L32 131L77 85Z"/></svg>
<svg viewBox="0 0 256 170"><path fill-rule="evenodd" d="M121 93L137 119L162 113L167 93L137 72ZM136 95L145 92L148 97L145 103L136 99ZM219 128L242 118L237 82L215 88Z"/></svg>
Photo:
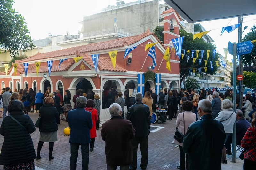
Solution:
<svg viewBox="0 0 256 170"><path fill-rule="evenodd" d="M82 170L89 169L89 143L92 129L92 113L84 110L87 99L84 96L76 98L76 109L68 112L70 127L70 170L76 170L79 145L82 150Z"/></svg>

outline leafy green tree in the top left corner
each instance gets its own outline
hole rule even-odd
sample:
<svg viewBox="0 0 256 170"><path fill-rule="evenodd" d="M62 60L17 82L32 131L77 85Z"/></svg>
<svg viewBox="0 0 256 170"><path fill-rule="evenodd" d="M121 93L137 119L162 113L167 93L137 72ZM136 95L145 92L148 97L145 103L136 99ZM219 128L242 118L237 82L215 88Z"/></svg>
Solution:
<svg viewBox="0 0 256 170"><path fill-rule="evenodd" d="M0 3L0 48L10 51L16 58L18 50L23 52L35 47L29 35L24 17L12 9L13 0L1 0ZM1 53L1 52L0 52Z"/></svg>

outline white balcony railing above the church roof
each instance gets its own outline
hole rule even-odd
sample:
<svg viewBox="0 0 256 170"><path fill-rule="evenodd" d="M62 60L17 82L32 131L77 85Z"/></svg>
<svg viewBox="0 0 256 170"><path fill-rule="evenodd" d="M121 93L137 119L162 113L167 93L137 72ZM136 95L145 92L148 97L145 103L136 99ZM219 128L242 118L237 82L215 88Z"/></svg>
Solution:
<svg viewBox="0 0 256 170"><path fill-rule="evenodd" d="M84 38L87 38L87 37L91 38L93 36L98 36L98 35L103 37L103 36L107 36L109 34L118 35L118 33L122 34L122 35L125 35L125 36L134 35L134 34L128 32L128 31L125 31L121 28L109 28L109 29L103 29L103 30L99 30L99 31L92 31L92 32L89 32L89 33L84 33L83 37Z"/></svg>

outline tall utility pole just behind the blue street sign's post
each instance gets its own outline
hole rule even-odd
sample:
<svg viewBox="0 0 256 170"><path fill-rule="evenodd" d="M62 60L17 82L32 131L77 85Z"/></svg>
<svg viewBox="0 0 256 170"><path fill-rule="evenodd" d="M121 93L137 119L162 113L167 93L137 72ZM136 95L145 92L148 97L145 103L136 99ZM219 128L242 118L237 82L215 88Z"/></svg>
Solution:
<svg viewBox="0 0 256 170"><path fill-rule="evenodd" d="M243 22L243 17L238 17L238 24L241 23L240 27L238 28L238 43L242 42L242 22ZM239 67L239 69L238 69L239 74L238 75L243 75L243 61L242 61L241 56L240 56L240 59L239 59L239 66L238 67ZM243 92L241 92L241 85L243 85L243 84L244 84L243 80L239 81L239 96L240 96L239 108L241 108L243 106Z"/></svg>

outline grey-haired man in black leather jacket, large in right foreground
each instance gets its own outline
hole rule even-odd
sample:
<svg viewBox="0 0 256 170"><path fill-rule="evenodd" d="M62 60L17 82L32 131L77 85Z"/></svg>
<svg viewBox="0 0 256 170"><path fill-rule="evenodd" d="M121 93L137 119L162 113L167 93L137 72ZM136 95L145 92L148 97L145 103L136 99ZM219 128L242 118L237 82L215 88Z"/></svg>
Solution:
<svg viewBox="0 0 256 170"><path fill-rule="evenodd" d="M183 151L188 154L188 169L221 170L226 137L224 127L211 115L212 103L209 100L200 100L197 112L200 119L190 124L183 138Z"/></svg>

